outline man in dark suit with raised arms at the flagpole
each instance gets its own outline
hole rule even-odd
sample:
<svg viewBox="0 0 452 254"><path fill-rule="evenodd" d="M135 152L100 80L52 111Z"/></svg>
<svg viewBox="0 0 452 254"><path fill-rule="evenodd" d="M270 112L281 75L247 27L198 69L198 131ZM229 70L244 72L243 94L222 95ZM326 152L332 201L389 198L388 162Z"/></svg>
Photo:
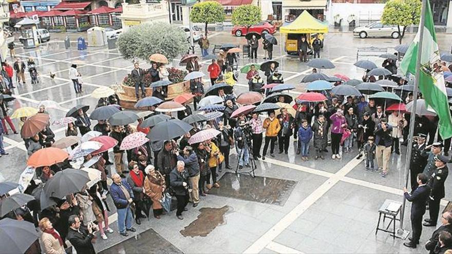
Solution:
<svg viewBox="0 0 452 254"><path fill-rule="evenodd" d="M406 247L416 248L419 244L419 238L422 233L422 217L425 213L425 202L428 199L430 193L430 187L427 183L427 176L423 173L419 173L417 177L418 187L410 195L406 187L403 187L403 195L406 200L412 202L411 204L411 229L413 230L409 242L403 243Z"/></svg>

